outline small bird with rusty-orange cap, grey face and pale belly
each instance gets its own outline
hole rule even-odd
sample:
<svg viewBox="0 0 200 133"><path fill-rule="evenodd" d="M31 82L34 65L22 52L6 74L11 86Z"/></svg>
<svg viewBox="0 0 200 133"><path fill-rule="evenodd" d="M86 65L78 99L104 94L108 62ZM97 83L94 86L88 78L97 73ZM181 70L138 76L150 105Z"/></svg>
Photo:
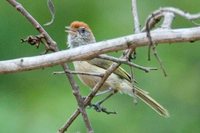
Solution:
<svg viewBox="0 0 200 133"><path fill-rule="evenodd" d="M69 27L66 27L68 33L68 45L70 48L75 48L83 45L89 45L95 43L95 37L90 27L80 21L74 21ZM111 66L113 62L105 59L93 58L85 61L74 61L74 68L76 71L88 72L88 73L100 73L103 74ZM78 75L79 79L90 88L93 88L99 81L100 77L92 75ZM128 94L129 96L136 96L159 115L168 117L168 111L156 102L148 95L148 92L132 85L131 76L121 67L116 69L105 81L100 91L112 89L114 91Z"/></svg>

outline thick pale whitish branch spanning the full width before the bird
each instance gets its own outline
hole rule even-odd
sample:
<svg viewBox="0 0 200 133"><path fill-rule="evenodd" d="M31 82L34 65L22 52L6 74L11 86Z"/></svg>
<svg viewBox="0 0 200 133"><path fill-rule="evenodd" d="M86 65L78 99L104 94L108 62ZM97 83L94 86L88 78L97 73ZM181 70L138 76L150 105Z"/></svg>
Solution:
<svg viewBox="0 0 200 133"><path fill-rule="evenodd" d="M175 30L158 29L151 32L151 37L153 42L157 44L194 42L200 40L200 27ZM0 74L50 67L76 60L85 60L111 51L148 46L148 42L146 33L139 33L56 53L0 61Z"/></svg>

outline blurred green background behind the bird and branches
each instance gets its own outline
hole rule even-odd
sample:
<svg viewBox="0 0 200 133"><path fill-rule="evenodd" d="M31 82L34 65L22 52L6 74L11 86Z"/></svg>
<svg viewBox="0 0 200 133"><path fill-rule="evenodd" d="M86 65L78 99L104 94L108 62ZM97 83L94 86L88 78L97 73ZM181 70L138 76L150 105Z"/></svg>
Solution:
<svg viewBox="0 0 200 133"><path fill-rule="evenodd" d="M20 0L41 23L50 20L46 0ZM87 22L97 41L133 33L131 0L54 0L55 22L45 27L60 49L66 49L64 27L74 20ZM141 25L154 10L174 6L191 13L200 12L198 0L138 0ZM173 28L194 26L176 17ZM0 1L0 60L39 55L39 49L22 45L21 38L38 34L31 24L6 0ZM138 85L164 105L170 118L162 118L139 101L135 106L127 95L116 95L104 104L117 115L106 115L88 109L96 133L199 133L200 132L200 45L180 43L160 45L158 53L168 72L144 73L135 70ZM114 53L119 56L121 52ZM147 47L138 48L135 61L144 66L157 66L147 61ZM72 67L72 65L70 66ZM125 68L127 68L125 66ZM0 75L0 133L55 133L77 108L68 80L52 75L59 66L28 72ZM128 70L128 69L127 69ZM76 78L77 79L77 78ZM78 81L78 79L77 79ZM88 87L78 81L81 93ZM79 116L69 133L86 132Z"/></svg>

